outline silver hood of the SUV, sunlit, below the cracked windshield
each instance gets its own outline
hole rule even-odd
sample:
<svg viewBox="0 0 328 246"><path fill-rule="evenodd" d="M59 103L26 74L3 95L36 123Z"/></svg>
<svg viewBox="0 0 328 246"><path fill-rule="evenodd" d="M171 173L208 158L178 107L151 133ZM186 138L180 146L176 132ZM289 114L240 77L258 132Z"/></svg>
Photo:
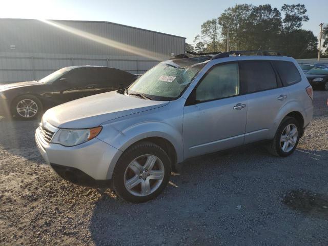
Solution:
<svg viewBox="0 0 328 246"><path fill-rule="evenodd" d="M43 121L59 128L92 128L105 121L155 109L168 101L152 101L116 91L80 98L49 109Z"/></svg>

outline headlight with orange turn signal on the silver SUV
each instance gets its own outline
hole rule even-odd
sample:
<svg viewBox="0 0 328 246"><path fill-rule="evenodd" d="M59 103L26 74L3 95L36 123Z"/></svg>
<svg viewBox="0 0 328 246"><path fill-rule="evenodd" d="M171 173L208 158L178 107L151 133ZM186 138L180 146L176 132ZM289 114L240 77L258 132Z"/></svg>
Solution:
<svg viewBox="0 0 328 246"><path fill-rule="evenodd" d="M95 127L90 129L59 129L51 142L64 146L75 146L95 138L103 129Z"/></svg>

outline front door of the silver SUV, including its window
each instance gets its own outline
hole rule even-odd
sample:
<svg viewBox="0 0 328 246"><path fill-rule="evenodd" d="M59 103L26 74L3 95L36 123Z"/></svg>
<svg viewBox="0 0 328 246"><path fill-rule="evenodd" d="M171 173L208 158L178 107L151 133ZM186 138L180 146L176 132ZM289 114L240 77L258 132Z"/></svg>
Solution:
<svg viewBox="0 0 328 246"><path fill-rule="evenodd" d="M199 81L183 109L185 158L243 145L248 107L239 91L238 63L216 65Z"/></svg>

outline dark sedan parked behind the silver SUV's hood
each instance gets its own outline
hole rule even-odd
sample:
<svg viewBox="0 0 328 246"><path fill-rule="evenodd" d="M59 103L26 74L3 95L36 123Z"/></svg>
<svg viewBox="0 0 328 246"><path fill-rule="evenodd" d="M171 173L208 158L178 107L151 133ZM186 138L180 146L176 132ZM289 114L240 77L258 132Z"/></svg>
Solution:
<svg viewBox="0 0 328 246"><path fill-rule="evenodd" d="M67 101L126 88L136 78L136 75L109 67L62 68L38 81L0 86L0 115L33 119L44 109Z"/></svg>

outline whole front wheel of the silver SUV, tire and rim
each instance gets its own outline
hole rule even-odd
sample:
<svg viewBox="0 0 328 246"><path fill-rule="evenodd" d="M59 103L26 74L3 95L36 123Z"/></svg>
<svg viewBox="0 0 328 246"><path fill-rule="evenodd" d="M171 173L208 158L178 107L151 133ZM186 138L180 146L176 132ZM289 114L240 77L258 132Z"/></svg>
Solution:
<svg viewBox="0 0 328 246"><path fill-rule="evenodd" d="M134 203L146 202L162 192L170 175L171 160L168 154L158 145L142 141L129 147L117 161L113 188L122 199Z"/></svg>

